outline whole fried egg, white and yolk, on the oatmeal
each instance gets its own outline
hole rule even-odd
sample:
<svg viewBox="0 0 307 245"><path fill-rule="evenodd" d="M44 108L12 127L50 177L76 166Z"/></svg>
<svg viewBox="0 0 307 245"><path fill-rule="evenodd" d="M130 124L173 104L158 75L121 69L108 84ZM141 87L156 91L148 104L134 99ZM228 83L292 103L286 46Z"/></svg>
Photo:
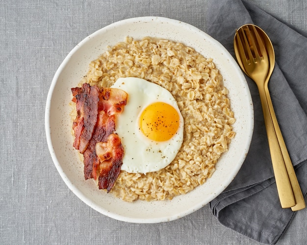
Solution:
<svg viewBox="0 0 307 245"><path fill-rule="evenodd" d="M183 117L173 95L136 77L119 78L111 88L128 93L115 128L125 152L121 170L146 174L165 168L183 141Z"/></svg>

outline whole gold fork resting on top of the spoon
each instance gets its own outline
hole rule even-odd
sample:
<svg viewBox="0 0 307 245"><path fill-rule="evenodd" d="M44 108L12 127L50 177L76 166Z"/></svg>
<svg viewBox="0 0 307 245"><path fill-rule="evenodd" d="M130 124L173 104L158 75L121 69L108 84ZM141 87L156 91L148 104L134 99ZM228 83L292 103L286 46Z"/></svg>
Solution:
<svg viewBox="0 0 307 245"><path fill-rule="evenodd" d="M281 207L293 207L296 203L265 94L265 81L269 71L269 58L254 25L240 27L236 31L234 39L234 51L238 63L244 72L255 81L259 90Z"/></svg>

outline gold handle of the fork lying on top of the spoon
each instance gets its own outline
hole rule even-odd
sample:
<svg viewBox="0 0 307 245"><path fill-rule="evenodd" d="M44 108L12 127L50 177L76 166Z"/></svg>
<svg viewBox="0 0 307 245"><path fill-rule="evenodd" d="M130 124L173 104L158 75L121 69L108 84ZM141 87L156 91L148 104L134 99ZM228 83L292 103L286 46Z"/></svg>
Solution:
<svg viewBox="0 0 307 245"><path fill-rule="evenodd" d="M289 208L295 205L291 184L284 164L281 148L275 133L273 120L269 111L267 98L265 95L264 83L258 86L266 133L268 136L269 148L271 153L272 165L276 180L278 195L282 208Z"/></svg>

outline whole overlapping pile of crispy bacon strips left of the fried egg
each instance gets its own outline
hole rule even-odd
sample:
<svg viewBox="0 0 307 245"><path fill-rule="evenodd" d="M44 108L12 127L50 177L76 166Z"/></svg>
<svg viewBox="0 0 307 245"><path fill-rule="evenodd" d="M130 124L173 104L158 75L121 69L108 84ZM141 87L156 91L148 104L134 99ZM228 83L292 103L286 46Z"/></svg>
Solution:
<svg viewBox="0 0 307 245"><path fill-rule="evenodd" d="M128 94L89 84L71 90L77 108L74 147L84 156L84 178L97 179L99 174L99 188L109 192L120 174L124 155L121 140L114 134L115 117L123 111Z"/></svg>

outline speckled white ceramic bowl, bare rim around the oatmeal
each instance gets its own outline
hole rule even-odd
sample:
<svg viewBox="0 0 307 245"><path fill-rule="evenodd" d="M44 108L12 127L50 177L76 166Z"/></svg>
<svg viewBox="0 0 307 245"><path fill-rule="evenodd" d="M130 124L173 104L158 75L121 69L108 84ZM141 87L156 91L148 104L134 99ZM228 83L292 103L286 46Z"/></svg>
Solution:
<svg viewBox="0 0 307 245"><path fill-rule="evenodd" d="M216 171L205 184L195 190L165 201L125 202L100 191L93 180L84 180L83 164L74 150L71 135L69 102L71 88L86 74L88 65L126 36L141 39L145 36L183 43L211 57L229 89L231 109L234 111L235 137L229 151L216 165ZM252 99L246 80L230 55L216 40L198 28L161 17L140 17L110 24L81 41L56 71L47 97L45 114L46 135L52 160L67 186L77 197L98 212L125 222L167 222L188 215L217 197L239 171L248 153L254 127Z"/></svg>

